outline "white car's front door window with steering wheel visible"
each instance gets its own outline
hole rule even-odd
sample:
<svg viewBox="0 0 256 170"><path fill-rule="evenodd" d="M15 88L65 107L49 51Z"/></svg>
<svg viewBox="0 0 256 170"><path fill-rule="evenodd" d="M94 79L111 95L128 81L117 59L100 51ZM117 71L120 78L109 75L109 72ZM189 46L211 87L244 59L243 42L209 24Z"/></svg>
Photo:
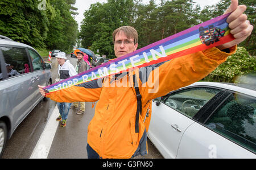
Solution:
<svg viewBox="0 0 256 170"><path fill-rule="evenodd" d="M218 92L219 89L189 88L172 93L162 98L162 101L172 109L192 118Z"/></svg>

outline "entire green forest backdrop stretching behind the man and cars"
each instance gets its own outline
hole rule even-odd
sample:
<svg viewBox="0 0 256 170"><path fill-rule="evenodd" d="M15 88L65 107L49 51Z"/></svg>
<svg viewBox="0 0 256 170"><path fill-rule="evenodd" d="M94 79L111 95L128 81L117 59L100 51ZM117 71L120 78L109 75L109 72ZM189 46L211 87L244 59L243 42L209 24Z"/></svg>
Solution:
<svg viewBox="0 0 256 170"><path fill-rule="evenodd" d="M192 0L162 0L156 5L142 0L108 0L93 3L84 13L81 28L75 20L76 0L1 0L0 35L36 48L40 55L52 49L66 53L73 47L90 48L113 59L112 32L120 26L133 26L139 35L138 49L224 13L230 0L201 9ZM86 3L86 1L85 1ZM247 6L248 20L255 28L255 1L240 0ZM255 76L255 29L228 58L204 80L236 82L241 75ZM240 78L239 78L240 77Z"/></svg>

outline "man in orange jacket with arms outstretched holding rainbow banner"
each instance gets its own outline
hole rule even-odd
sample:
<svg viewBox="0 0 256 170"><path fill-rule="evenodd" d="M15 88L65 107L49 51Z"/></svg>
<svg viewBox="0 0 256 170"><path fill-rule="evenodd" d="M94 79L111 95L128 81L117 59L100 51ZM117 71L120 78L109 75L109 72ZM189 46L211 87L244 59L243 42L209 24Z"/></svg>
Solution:
<svg viewBox="0 0 256 170"><path fill-rule="evenodd" d="M39 86L39 91L43 96L57 102L98 101L94 117L88 126L88 158L130 158L145 155L147 127L144 123L146 117L142 115L145 115L151 107L151 99L201 80L234 53L236 44L245 40L253 30L253 26L246 20L247 16L243 14L245 9L246 6L238 6L238 1L232 0L226 11L232 13L227 19L230 32L236 38L232 42L147 67L151 69L140 68L134 71L139 84L142 106L137 132L135 131L137 93L133 88L133 74L109 76L47 95L43 86ZM113 32L113 42L115 56L121 57L133 52L138 47L137 31L129 26L120 27ZM138 72L143 71L146 73L139 76ZM148 85L148 80L155 75L157 77L153 79L158 81ZM148 93L155 86L157 90ZM150 121L150 117L146 119Z"/></svg>

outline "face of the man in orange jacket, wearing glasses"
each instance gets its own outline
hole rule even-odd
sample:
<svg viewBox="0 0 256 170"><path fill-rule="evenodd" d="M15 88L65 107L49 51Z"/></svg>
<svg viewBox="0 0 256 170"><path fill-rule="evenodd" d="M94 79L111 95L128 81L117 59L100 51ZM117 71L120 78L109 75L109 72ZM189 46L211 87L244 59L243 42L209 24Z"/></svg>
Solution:
<svg viewBox="0 0 256 170"><path fill-rule="evenodd" d="M122 57L128 53L136 51L137 47L138 47L138 43L134 44L134 39L133 38L128 39L127 36L123 33L123 31L120 31L115 35L115 43L114 43L115 56Z"/></svg>

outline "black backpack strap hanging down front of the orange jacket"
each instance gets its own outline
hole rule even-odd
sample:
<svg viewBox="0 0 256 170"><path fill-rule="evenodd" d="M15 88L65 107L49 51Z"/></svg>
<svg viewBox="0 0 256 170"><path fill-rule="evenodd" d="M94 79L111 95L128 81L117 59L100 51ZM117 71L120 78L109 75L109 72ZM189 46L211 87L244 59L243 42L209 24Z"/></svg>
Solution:
<svg viewBox="0 0 256 170"><path fill-rule="evenodd" d="M137 112L136 112L136 120L135 120L135 133L139 132L139 114L142 112L142 102L141 102L141 93L139 93L139 86L137 82L136 75L133 75L133 86L136 92L137 97Z"/></svg>

